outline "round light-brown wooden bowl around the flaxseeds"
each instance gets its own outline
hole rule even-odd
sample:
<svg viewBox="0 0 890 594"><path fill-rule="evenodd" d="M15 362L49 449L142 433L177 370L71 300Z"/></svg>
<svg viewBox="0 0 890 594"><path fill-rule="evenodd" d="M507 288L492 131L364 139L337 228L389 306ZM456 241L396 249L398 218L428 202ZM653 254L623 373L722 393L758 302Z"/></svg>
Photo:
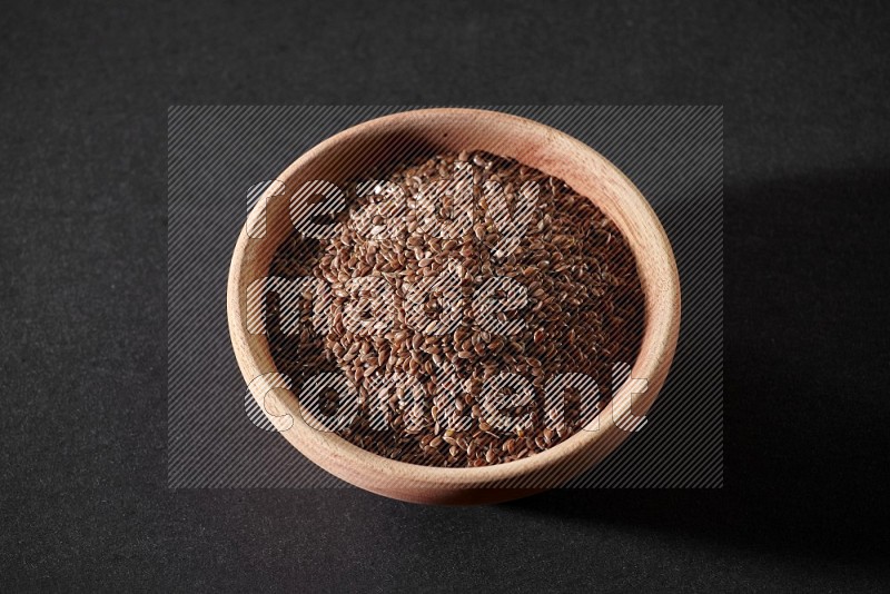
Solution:
<svg viewBox="0 0 890 594"><path fill-rule="evenodd" d="M632 377L647 389L631 396L627 382L599 415L597 430L581 430L531 457L478 468L428 467L372 454L334 433L310 428L295 395L281 388L266 335L250 334L246 293L265 277L290 231L288 197L306 181L339 184L360 178L382 162L418 152L485 150L565 180L589 197L619 227L636 259L645 296L645 330ZM345 130L316 146L278 177L248 216L238 238L228 281L228 320L235 355L267 417L306 457L344 481L408 502L477 504L507 501L556 487L614 451L629 435L613 407L645 415L664 384L680 325L680 280L668 237L634 185L605 158L574 138L544 125L500 112L426 109L383 117ZM266 211L260 208L266 204ZM265 234L261 232L265 226ZM260 232L257 232L259 230ZM263 235L255 238L251 235ZM631 400L632 398L632 400ZM621 404L619 404L621 403Z"/></svg>

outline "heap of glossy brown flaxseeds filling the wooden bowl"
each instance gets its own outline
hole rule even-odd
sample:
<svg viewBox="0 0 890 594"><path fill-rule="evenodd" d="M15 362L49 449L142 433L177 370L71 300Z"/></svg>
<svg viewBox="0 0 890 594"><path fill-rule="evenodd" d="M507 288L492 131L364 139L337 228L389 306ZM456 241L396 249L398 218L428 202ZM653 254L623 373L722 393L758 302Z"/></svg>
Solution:
<svg viewBox="0 0 890 594"><path fill-rule="evenodd" d="M475 186L467 185L467 176ZM503 199L484 190L487 180L501 184ZM392 440L359 430L367 427L363 416L355 427L342 432L359 447L394 459L482 466L534 455L572 435L576 430L572 419L583 404L574 396L566 399L565 422L556 423L562 410L544 410L542 420L550 419L550 426L515 427L512 437L493 433L491 424L482 419L476 398L483 382L503 372L531 376L532 385L543 390L550 374L599 373L597 366L607 369L612 360L634 356L639 345L630 337L642 331L629 320L642 318L642 294L626 241L590 200L562 180L485 152L449 154L396 167L389 181L405 197L404 228L397 235L375 240L363 235L386 230L393 218L383 206L367 206L383 205L393 191L385 188L350 206L352 224L343 225L336 237L319 240L316 254L297 257L286 249L276 254L273 267L322 280L329 297L324 303L314 290L303 290L301 301L293 306L299 313L295 339L299 339L301 358L297 362L293 354L281 355L288 349L273 345L275 363L293 367L333 362L356 382L363 408L374 402L368 390L372 377L406 373L416 378L423 402L412 402L405 412L399 410L405 396L402 385L386 400ZM453 191L442 191L435 186L439 181ZM433 196L438 202L435 212L423 210L419 199L422 191L432 188L438 188ZM471 189L476 194L467 211L458 196ZM456 218L464 212L468 219ZM503 240L511 237L510 226L517 221L517 212L531 215L525 219L524 236L506 245ZM437 228L444 218L461 222ZM443 287L432 289L422 305L427 319L415 327L409 324L406 289L417 281L435 281L443 271L458 279L459 294L446 296ZM522 309L504 304L494 317L502 323L522 320L528 329L498 336L485 331L475 319L471 295L495 276L524 285L528 303ZM387 285L353 284L364 277ZM505 300L506 291L498 291L497 297ZM454 298L463 299L463 306L449 307ZM330 324L327 334L319 336L309 318L328 308ZM356 317L344 320L346 311ZM435 334L453 323L459 326L452 333ZM270 335L270 343L276 339ZM453 406L437 377L452 366L449 373L456 374L464 389ZM469 409L469 418L463 415L465 409ZM456 433L446 428L462 423L475 427ZM442 444L447 451L441 449Z"/></svg>

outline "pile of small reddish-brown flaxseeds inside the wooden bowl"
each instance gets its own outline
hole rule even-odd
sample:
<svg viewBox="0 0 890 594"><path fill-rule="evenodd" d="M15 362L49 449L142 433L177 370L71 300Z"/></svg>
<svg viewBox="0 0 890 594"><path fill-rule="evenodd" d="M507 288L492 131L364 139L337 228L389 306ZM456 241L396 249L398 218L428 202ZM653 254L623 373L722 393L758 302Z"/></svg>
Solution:
<svg viewBox="0 0 890 594"><path fill-rule="evenodd" d="M576 433L596 403L568 389L555 413L547 383L586 374L602 407L612 366L632 365L642 338L642 290L619 230L563 181L488 154L442 155L385 180L347 192L338 235L295 231L273 261L273 275L330 290L324 335L308 306L300 331L276 331L269 306L273 358L295 393L312 374L345 374L358 400L337 433L413 464L500 464ZM482 394L505 374L533 394L504 400L516 420L506 425Z"/></svg>

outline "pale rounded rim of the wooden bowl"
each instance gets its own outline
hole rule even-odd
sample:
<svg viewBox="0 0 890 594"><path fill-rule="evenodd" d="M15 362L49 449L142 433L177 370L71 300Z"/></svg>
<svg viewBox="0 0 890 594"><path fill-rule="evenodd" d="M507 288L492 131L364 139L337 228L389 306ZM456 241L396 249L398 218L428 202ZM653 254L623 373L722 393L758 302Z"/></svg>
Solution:
<svg viewBox="0 0 890 594"><path fill-rule="evenodd" d="M636 202L635 207L639 208L637 215L643 217L640 224L652 234L649 239L659 248L650 254L649 257L655 257L655 263L663 274L662 277L657 279L657 296L652 295L651 291L644 290L646 317L643 338L641 340L640 353L632 366L634 372L633 377L637 377L637 372L649 372L646 375L642 375L642 377L649 380L647 396L643 399L637 398L633 400L634 412L637 415L641 413L645 414L657 397L657 393L664 383L676 347L680 325L680 279L676 263L668 236L645 197L616 166L590 146L538 121L501 111L467 108L415 109L399 111L360 122L323 140L300 155L276 177L276 180L286 182L307 164L324 157L339 145L354 140L363 135L380 131L396 122L409 125L414 121L422 126L424 119L428 120L429 118L443 117L458 119L495 118L517 129L525 128L527 130L534 130L536 133L544 133L553 138L558 138L562 142L566 143L566 146L585 154L586 158L599 161L603 171L614 177L611 181L622 186L622 190L626 192L625 199L631 199ZM530 166L534 167L532 164L530 164ZM276 392L269 392L270 386L264 385L263 382L259 383L260 386L256 386L256 379L269 373L268 370L264 370L263 363L266 363L270 357L268 355L268 348L264 354L257 353L255 348L249 346L246 336L246 325L244 323L241 284L245 266L248 260L250 260L251 249L255 249L251 246L248 229L253 229L257 219L264 215L261 207L266 199L273 195L273 188L269 188L264 192L257 206L251 209L245 225L241 227L233 253L227 286L228 326L236 359L245 380L250 386L254 398L270 420L274 415L270 415L266 406L264 406L264 400L268 402L268 398L273 400L273 404L279 412L281 410L279 407L283 407L291 415L295 410L290 406L290 403L279 397ZM597 207L602 208L596 200L591 197L587 198L594 201ZM619 221L613 220L613 222L619 226L622 234L626 235L626 230L621 228ZM631 247L633 248L633 246ZM271 251L274 253L275 249ZM634 250L633 256L637 268L637 276L641 279L641 284L643 284L644 278L640 267L640 255ZM644 289L646 287L644 287ZM651 290L654 287L649 286L647 288ZM650 301L656 298L666 299L668 303L663 307L653 308ZM661 314L663 318L657 320L650 319L651 310ZM644 357L644 348L646 345L652 345L650 348L651 353L646 352L646 357ZM637 369L641 362L645 362L649 365L644 369ZM652 379L650 379L652 377L656 378L654 382L655 385L653 385ZM334 433L313 429L305 425L305 422L298 420L296 417L293 419L294 422L290 428L279 433L283 433L285 437L309 459L335 476L369 491L396 496L398 498L416 499L417 497L411 493L412 489L415 488L451 487L467 489L502 486L508 484L513 479L541 474L545 468L565 458L583 458L584 451L590 451L596 443L606 439L607 435L614 434L614 432L610 433L609 430L610 427L615 426L613 422L613 404L620 397L630 397L630 394L627 394L627 390L631 389L630 384L631 382L627 382L617 394L613 395L613 398L595 417L599 424L597 430L578 430L564 442L544 452L520 461L492 466L439 467L395 461L363 449ZM296 400L296 397L294 397L294 399ZM605 423L602 422L603 419L605 419ZM603 424L606 425L606 430L604 430ZM621 430L621 433L629 432ZM617 443L609 448L605 455L613 452L624 438L626 438L626 435L617 435ZM344 468L353 468L356 473L344 473ZM577 468L576 471L581 472L583 469L584 468ZM577 474L577 472L574 474ZM385 486L383 486L384 482ZM550 488L550 486L544 486L543 488ZM396 493L394 494L393 492Z"/></svg>

